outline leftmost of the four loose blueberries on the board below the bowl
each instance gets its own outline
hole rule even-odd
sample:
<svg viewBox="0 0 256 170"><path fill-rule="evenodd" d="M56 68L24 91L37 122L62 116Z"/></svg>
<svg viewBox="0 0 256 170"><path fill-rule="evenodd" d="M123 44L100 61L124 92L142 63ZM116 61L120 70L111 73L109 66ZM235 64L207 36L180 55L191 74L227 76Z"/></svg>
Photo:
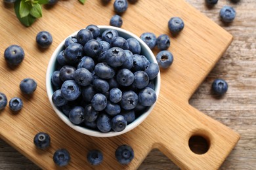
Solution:
<svg viewBox="0 0 256 170"><path fill-rule="evenodd" d="M37 148L46 149L50 146L51 137L47 133L39 132L35 134L35 137L33 138L33 143Z"/></svg>

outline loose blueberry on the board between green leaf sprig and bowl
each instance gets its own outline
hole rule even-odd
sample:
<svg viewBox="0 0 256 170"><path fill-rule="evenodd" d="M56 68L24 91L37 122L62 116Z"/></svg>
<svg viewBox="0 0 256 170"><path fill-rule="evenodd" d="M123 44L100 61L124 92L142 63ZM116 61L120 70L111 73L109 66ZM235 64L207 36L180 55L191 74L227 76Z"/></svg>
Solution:
<svg viewBox="0 0 256 170"><path fill-rule="evenodd" d="M53 43L53 37L48 31L40 31L35 38L37 45L41 48L48 48Z"/></svg>

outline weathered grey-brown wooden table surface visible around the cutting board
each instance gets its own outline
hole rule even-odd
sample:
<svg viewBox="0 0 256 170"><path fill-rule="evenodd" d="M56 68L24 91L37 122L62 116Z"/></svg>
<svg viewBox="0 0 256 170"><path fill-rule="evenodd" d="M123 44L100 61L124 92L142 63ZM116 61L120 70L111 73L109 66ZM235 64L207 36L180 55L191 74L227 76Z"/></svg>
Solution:
<svg viewBox="0 0 256 170"><path fill-rule="evenodd" d="M204 1L187 0L234 36L234 41L190 99L190 104L240 133L241 139L221 169L256 169L256 1L234 4L219 1L209 9ZM236 9L230 25L219 20L224 5ZM228 92L217 99L211 94L215 78L228 82ZM26 157L0 139L0 169L39 169ZM158 150L152 150L139 169L179 169Z"/></svg>

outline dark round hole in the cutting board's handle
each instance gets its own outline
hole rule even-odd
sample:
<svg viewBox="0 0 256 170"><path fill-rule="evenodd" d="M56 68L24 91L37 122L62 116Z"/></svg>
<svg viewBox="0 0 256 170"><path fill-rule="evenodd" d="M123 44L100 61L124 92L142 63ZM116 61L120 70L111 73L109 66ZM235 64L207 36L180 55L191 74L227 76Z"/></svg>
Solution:
<svg viewBox="0 0 256 170"><path fill-rule="evenodd" d="M188 140L188 146L195 154L205 154L209 150L209 140L201 135L192 135Z"/></svg>

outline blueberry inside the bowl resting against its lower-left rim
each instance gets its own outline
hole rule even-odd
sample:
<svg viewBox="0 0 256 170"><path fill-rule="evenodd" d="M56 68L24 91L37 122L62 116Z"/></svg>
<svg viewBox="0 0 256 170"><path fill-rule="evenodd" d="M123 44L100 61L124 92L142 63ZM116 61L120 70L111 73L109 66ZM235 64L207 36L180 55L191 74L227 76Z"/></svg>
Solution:
<svg viewBox="0 0 256 170"><path fill-rule="evenodd" d="M70 110L69 118L70 122L73 124L81 124L83 121L85 121L85 110L83 107L76 106L73 109Z"/></svg>

